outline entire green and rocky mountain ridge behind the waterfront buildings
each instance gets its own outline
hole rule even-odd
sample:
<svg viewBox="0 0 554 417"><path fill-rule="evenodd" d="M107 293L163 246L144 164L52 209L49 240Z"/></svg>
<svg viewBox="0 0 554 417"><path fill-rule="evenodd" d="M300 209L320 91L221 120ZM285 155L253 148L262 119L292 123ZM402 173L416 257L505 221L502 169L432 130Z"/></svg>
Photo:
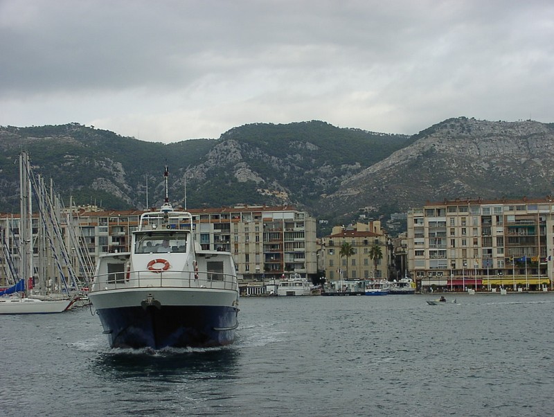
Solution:
<svg viewBox="0 0 554 417"><path fill-rule="evenodd" d="M145 208L147 181L148 205L159 206L166 164L174 204L289 204L331 222L427 200L554 194L554 125L535 121L449 118L412 136L323 121L252 123L169 144L78 123L0 127L1 211L19 210L22 149L65 198L116 209Z"/></svg>

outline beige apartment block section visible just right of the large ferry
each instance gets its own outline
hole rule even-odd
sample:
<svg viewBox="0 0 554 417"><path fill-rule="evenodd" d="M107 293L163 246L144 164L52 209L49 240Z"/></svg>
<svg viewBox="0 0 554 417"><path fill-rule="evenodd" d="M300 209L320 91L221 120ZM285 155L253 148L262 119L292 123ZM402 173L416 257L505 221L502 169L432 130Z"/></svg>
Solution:
<svg viewBox="0 0 554 417"><path fill-rule="evenodd" d="M317 273L316 221L290 206L234 206L189 210L195 238L206 249L230 251L238 274L265 281Z"/></svg>

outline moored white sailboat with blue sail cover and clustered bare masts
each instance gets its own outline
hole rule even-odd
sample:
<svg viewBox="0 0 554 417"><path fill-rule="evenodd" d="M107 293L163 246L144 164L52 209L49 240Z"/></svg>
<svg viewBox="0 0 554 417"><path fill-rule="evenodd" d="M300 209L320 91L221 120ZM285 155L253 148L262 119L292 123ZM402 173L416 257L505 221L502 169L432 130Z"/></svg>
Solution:
<svg viewBox="0 0 554 417"><path fill-rule="evenodd" d="M60 253L64 252L64 242L61 238L60 224L48 224L52 220L51 202L44 199L44 182L37 179L30 170L29 157L26 152L19 155L19 179L20 179L20 218L19 218L19 241L15 240L19 250L19 270L16 270L12 278L17 283L12 287L0 292L0 314L51 314L60 313L71 308L77 299L71 294L67 285L65 272L69 268L69 259L66 258L65 265L60 260ZM33 205L32 192L35 192L39 200L39 218L42 222L42 234L34 240L33 236ZM33 260L35 256L35 242L39 249L39 255L47 244L50 248L44 251L44 256L51 257L51 265L57 265L58 273L55 278L39 276L35 282L35 267ZM42 245L39 245L41 244ZM7 242L2 242L5 253ZM64 248L60 252L60 248ZM38 269L44 271L46 269ZM51 281L50 283L48 281ZM55 282L54 282L55 281ZM57 285L56 283L60 283ZM35 285L36 284L36 285ZM62 292L62 287L64 292ZM55 291L58 290L58 291Z"/></svg>

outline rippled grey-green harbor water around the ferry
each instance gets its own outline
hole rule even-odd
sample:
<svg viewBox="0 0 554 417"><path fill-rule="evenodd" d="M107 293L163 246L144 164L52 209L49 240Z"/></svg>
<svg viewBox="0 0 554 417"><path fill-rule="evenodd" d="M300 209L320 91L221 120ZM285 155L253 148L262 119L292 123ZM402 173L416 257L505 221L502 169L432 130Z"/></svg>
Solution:
<svg viewBox="0 0 554 417"><path fill-rule="evenodd" d="M240 300L225 348L110 349L89 308L3 316L2 416L550 416L554 294ZM447 297L448 298L448 297Z"/></svg>

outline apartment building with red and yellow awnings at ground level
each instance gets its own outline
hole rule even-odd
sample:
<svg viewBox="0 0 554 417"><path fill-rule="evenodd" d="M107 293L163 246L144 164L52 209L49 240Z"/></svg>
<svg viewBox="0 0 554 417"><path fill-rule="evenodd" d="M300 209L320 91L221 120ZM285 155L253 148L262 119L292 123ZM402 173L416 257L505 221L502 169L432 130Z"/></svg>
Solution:
<svg viewBox="0 0 554 417"><path fill-rule="evenodd" d="M409 274L422 290L546 290L554 202L456 199L408 213Z"/></svg>

